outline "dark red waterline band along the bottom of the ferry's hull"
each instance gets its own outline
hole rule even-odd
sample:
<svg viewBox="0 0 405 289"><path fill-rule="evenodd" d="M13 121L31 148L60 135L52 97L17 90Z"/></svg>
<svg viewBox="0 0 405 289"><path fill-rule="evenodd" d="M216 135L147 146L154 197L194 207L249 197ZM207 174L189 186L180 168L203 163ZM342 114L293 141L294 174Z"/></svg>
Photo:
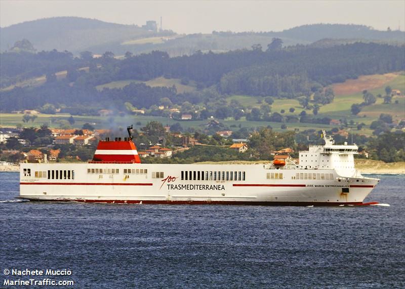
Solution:
<svg viewBox="0 0 405 289"><path fill-rule="evenodd" d="M273 202L273 201L172 201L172 200L98 200L98 199L48 199L38 200L31 199L32 201L74 201L74 202L88 202L88 203L127 203L127 204L222 204L222 205L288 205L288 206L337 206L344 205L368 205L372 203L362 202ZM375 202L373 202L375 203Z"/></svg>

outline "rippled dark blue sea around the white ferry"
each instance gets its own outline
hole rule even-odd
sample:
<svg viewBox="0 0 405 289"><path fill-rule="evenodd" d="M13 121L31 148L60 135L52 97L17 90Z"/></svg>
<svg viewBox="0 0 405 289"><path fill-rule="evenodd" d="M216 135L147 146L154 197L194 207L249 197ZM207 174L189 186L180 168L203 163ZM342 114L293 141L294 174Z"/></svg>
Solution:
<svg viewBox="0 0 405 289"><path fill-rule="evenodd" d="M3 172L0 287L15 268L68 269L61 288L404 288L405 178L372 176L365 202L389 207L31 202Z"/></svg>

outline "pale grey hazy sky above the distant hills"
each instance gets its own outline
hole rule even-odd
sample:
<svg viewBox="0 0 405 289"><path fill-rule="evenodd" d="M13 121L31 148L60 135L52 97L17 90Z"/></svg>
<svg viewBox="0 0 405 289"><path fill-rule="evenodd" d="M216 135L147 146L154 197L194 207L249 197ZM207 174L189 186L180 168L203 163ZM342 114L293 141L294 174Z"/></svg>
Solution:
<svg viewBox="0 0 405 289"><path fill-rule="evenodd" d="M280 31L312 23L404 29L405 1L23 1L0 0L0 26L56 16L121 24L159 21L178 33Z"/></svg>

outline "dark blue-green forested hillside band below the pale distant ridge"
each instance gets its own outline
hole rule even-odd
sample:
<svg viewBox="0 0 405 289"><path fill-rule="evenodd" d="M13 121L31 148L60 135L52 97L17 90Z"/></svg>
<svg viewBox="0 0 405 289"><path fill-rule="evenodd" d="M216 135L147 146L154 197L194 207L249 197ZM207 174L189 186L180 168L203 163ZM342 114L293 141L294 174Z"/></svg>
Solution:
<svg viewBox="0 0 405 289"><path fill-rule="evenodd" d="M65 52L42 52L36 54L35 59L32 59L35 55L26 58L30 61L15 57L16 53L3 53L3 79L9 77L12 81L27 73L25 70L32 73L36 63L46 61L41 68L42 73L47 74L47 81L38 88L16 87L2 92L1 106L6 111L41 107L46 103L102 108L109 107L111 99L114 99L114 106L122 110L128 103L149 108L168 98L175 104L184 101L197 104L231 94L300 98L308 102L315 92L318 93L316 101L326 104L333 100L333 95L323 88L333 82L363 74L404 70L403 49L403 46L356 43L325 49L296 46L263 51L256 47L254 50L222 54L198 52L175 58L155 51L139 56L128 54L123 60L115 59L111 53L105 53L100 58L83 55L78 59ZM10 61L7 61L8 58ZM63 62L65 66L54 66L53 62ZM77 70L77 67L85 66L89 67L89 72ZM63 68L67 70L67 77L58 81L54 73ZM95 89L95 86L110 81L147 81L161 76L181 78L184 83L193 80L198 89L209 88L209 91L178 94L175 88L150 88L145 84L131 84L122 89L101 92ZM61 98L63 95L69 97Z"/></svg>

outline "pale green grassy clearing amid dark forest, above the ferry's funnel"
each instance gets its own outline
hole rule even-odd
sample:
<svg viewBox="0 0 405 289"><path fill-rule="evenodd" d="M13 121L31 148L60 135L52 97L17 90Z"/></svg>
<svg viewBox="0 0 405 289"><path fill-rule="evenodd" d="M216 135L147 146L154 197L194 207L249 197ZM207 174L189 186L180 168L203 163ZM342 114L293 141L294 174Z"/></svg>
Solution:
<svg viewBox="0 0 405 289"><path fill-rule="evenodd" d="M151 79L149 81L141 81L141 80L136 80L136 79L112 81L112 82L109 82L108 84L96 86L96 89L99 91L102 91L104 88L109 88L109 89L123 88L133 82L134 83L144 83L150 87L175 86L177 89L177 93L191 92L196 89L196 84L194 81L190 81L189 85L182 85L180 82L180 79L178 79L178 78L167 79L165 77L157 77L157 78Z"/></svg>

